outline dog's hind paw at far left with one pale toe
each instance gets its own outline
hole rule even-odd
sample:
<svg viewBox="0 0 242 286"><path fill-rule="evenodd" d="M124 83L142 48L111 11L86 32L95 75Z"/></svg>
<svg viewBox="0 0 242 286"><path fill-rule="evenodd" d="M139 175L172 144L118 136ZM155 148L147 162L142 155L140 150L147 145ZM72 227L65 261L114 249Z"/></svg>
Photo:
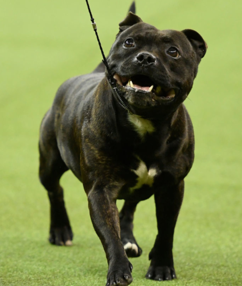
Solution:
<svg viewBox="0 0 242 286"><path fill-rule="evenodd" d="M55 245L71 246L73 233L70 226L53 227L50 230L49 242Z"/></svg>

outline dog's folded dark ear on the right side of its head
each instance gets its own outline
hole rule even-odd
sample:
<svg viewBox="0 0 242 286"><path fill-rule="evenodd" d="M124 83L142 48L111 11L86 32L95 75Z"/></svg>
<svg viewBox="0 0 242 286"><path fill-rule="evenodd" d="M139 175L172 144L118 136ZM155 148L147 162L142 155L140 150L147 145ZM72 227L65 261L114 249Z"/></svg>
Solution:
<svg viewBox="0 0 242 286"><path fill-rule="evenodd" d="M198 34L198 32L194 30L186 29L183 30L182 32L186 35L191 45L195 49L196 54L198 55L198 57L200 57L201 60L201 58L205 56L208 48L204 39L201 37L200 34Z"/></svg>

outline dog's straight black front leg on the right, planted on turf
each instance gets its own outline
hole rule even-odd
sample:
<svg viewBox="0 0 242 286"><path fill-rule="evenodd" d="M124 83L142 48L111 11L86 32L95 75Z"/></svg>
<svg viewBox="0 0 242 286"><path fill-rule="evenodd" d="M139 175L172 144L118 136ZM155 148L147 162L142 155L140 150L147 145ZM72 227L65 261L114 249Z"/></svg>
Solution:
<svg viewBox="0 0 242 286"><path fill-rule="evenodd" d="M173 235L184 194L184 181L155 192L155 207L158 235L149 259L150 267L146 278L153 280L172 280L176 278L172 246Z"/></svg>

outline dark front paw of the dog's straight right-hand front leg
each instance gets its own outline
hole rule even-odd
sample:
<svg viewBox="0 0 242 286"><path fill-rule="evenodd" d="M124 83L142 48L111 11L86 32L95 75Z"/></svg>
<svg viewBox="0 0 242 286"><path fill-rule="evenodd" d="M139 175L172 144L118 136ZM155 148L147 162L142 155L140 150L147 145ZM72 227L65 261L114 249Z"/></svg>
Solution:
<svg viewBox="0 0 242 286"><path fill-rule="evenodd" d="M168 266L150 266L146 278L157 281L172 280L176 278L175 269Z"/></svg>

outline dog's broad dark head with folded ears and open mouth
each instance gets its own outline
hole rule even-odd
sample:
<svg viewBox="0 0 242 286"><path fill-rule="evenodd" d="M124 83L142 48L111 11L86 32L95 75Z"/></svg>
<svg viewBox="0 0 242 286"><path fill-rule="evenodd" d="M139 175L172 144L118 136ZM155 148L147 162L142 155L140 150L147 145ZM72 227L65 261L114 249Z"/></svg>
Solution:
<svg viewBox="0 0 242 286"><path fill-rule="evenodd" d="M206 53L203 38L193 30L160 31L131 12L119 26L108 63L124 98L141 115L177 108Z"/></svg>

